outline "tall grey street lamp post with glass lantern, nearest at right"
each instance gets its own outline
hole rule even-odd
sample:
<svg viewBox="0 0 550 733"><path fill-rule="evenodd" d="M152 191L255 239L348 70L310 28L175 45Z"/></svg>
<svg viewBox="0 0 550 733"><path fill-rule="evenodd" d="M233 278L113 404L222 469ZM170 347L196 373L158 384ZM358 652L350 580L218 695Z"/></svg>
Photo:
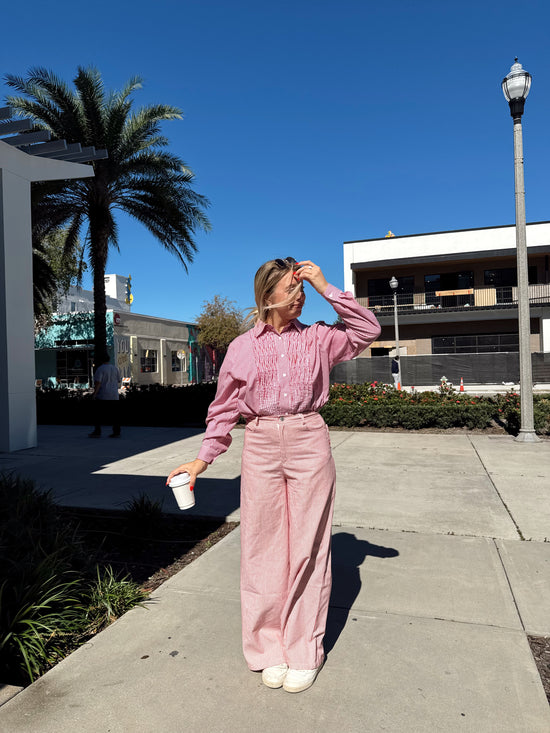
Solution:
<svg viewBox="0 0 550 733"><path fill-rule="evenodd" d="M531 88L531 74L516 58L510 73L502 81L502 91L514 120L514 179L516 193L516 257L518 271L518 329L521 427L516 440L537 443L533 414L533 377L531 371L531 319L529 314L529 278L525 229L525 186L523 181L523 138L521 116Z"/></svg>

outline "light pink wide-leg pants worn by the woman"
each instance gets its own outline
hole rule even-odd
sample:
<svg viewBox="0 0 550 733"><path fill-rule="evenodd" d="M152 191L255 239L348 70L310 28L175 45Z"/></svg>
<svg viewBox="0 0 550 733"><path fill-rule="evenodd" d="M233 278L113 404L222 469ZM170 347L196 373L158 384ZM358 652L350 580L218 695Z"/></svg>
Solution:
<svg viewBox="0 0 550 733"><path fill-rule="evenodd" d="M246 426L241 471L243 651L250 669L324 659L335 469L316 412Z"/></svg>

